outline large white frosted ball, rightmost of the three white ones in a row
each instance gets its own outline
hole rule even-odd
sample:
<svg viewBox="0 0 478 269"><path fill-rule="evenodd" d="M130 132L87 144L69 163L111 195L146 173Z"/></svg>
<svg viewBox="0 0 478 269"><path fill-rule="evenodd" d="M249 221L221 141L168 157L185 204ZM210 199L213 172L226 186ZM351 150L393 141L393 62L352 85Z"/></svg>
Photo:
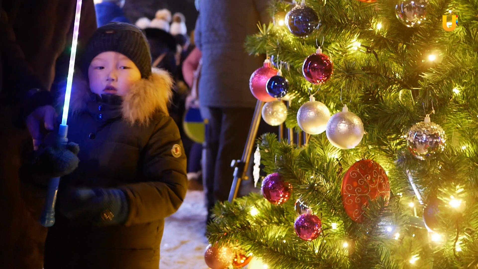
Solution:
<svg viewBox="0 0 478 269"><path fill-rule="evenodd" d="M359 145L364 134L362 120L344 105L342 112L334 114L328 121L326 134L333 146L340 149L354 148Z"/></svg>

